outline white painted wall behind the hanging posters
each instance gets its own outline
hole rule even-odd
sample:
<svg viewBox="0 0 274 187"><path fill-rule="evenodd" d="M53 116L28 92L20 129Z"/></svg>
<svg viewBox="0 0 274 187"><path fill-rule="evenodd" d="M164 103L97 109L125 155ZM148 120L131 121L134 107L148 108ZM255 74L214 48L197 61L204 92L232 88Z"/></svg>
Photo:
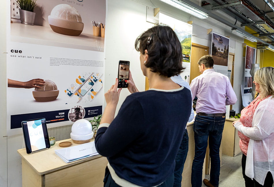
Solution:
<svg viewBox="0 0 274 187"><path fill-rule="evenodd" d="M4 4L6 1L3 1ZM235 53L234 66L234 91L237 94L238 102L233 106L236 112L241 108L241 92L240 84L243 77L243 39L231 34L231 28L219 23L212 18L200 20L189 14L186 14L178 9L174 9L165 3L157 0L152 0L156 7L160 7L160 11L168 16L187 22L193 21L193 43L210 46L211 37L207 35L207 29L212 28L213 32L230 36L230 52ZM108 0L107 20L105 33L106 47L106 64L105 64L105 92L115 82L117 77L119 60L129 60L130 70L132 71L133 79L140 91L144 91L145 77L140 70L139 53L134 49L134 41L143 31L153 26L146 22L146 5L154 7L150 0ZM1 23L6 22L6 10L0 12ZM6 131L6 58L5 54L5 28L2 24L0 30L1 37L1 54L0 54L0 89L2 97L0 98L0 117L2 123L0 126L0 187L2 186L22 186L21 177L21 160L17 153L17 149L22 148L22 135L5 136ZM123 89L120 94L117 111L120 108L125 97L130 93L127 89ZM8 176L8 180L7 180Z"/></svg>

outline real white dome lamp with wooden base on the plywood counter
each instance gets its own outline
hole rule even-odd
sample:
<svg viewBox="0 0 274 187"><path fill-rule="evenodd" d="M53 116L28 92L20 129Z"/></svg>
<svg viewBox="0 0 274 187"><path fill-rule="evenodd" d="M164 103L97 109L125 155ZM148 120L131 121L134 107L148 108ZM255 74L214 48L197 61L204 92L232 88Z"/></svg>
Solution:
<svg viewBox="0 0 274 187"><path fill-rule="evenodd" d="M86 119L78 119L71 128L70 138L76 144L90 142L93 138L91 123Z"/></svg>

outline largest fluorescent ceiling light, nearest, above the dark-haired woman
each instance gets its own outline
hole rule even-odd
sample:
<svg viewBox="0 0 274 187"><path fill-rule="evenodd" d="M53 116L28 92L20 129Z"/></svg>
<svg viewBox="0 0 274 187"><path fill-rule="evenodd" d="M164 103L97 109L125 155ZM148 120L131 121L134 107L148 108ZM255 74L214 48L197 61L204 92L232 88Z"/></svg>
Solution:
<svg viewBox="0 0 274 187"><path fill-rule="evenodd" d="M191 14L197 18L200 19L206 19L208 18L208 14L205 12L200 11L199 9L196 9L190 5L187 5L185 3L183 3L182 1L178 1L178 0L160 0L168 5L171 5L175 8L178 8L188 14Z"/></svg>

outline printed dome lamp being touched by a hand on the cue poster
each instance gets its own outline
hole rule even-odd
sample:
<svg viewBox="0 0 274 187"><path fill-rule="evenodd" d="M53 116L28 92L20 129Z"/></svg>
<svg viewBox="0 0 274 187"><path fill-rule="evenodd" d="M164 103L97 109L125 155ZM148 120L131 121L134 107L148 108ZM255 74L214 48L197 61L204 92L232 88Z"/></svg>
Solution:
<svg viewBox="0 0 274 187"><path fill-rule="evenodd" d="M57 85L51 80L44 80L44 85L41 88L35 88L32 91L34 99L38 102L48 102L55 100L59 95Z"/></svg>

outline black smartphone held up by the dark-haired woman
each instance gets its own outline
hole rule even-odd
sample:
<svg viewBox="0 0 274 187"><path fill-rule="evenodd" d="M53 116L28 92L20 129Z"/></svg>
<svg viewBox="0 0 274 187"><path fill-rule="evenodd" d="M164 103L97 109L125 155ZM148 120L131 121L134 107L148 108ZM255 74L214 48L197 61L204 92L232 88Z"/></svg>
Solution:
<svg viewBox="0 0 274 187"><path fill-rule="evenodd" d="M118 88L127 88L128 84L125 80L128 80L130 75L130 61L119 61L119 68L118 68Z"/></svg>

